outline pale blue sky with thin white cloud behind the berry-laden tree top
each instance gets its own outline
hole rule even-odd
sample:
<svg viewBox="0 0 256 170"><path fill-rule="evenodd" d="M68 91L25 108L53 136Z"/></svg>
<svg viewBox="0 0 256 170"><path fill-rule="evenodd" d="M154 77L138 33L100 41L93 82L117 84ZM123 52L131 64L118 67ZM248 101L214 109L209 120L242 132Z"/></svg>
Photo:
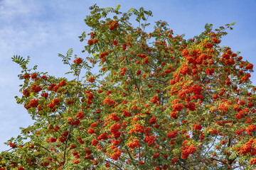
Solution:
<svg viewBox="0 0 256 170"><path fill-rule="evenodd" d="M122 11L144 7L154 17L149 23L167 21L175 34L192 38L204 30L206 23L214 28L236 22L234 30L223 38L220 45L228 45L240 51L242 57L256 66L256 1L255 0L0 0L0 151L9 149L3 143L16 137L19 127L31 125L30 115L23 106L16 104L17 75L21 69L11 62L13 55L31 56L30 66L38 65L39 72L64 77L68 67L62 64L58 53L73 47L81 52L85 42L78 36L90 31L83 22L89 14L89 6L114 7L121 4ZM252 82L256 84L256 74Z"/></svg>

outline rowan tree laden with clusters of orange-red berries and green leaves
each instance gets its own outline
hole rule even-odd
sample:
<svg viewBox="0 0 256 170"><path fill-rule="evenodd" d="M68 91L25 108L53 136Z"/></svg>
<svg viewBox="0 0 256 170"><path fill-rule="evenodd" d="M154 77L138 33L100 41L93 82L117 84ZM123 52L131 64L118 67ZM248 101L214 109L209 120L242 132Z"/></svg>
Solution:
<svg viewBox="0 0 256 170"><path fill-rule="evenodd" d="M253 65L219 45L234 23L185 40L165 21L146 33L151 11L119 7L90 7L89 57L59 55L73 80L12 58L35 123L6 142L0 169L255 168Z"/></svg>

